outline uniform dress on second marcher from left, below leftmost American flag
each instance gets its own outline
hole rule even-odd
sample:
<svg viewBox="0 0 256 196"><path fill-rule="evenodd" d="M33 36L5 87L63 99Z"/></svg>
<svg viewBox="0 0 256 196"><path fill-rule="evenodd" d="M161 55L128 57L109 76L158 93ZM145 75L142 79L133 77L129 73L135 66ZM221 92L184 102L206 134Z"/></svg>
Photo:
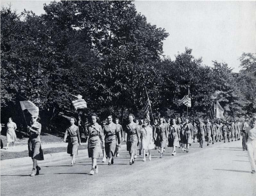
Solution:
<svg viewBox="0 0 256 196"><path fill-rule="evenodd" d="M70 126L65 135L69 136L67 153L72 155L78 154L78 141L81 143L79 128L76 125Z"/></svg>

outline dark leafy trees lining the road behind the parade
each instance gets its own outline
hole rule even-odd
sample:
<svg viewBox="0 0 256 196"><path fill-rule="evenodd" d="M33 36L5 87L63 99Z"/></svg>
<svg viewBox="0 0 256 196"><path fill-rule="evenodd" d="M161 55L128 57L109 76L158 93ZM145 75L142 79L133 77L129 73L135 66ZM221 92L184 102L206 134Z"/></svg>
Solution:
<svg viewBox="0 0 256 196"><path fill-rule="evenodd" d="M205 66L189 48L171 60L163 55L169 34L148 23L131 1L51 2L44 10L37 16L1 9L1 121L20 115L22 95L49 124L73 110L64 88L87 101L82 113L103 118L123 119L129 112L142 118L146 89L155 117L185 113L178 99L188 87L190 116L207 115L215 91L226 116L256 110L255 54L241 55L239 73L217 61Z"/></svg>

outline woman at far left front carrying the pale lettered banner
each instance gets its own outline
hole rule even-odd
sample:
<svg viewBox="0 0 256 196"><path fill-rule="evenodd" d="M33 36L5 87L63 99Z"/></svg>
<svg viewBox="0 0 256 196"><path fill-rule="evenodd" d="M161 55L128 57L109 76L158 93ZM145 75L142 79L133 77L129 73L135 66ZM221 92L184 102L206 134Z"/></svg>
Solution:
<svg viewBox="0 0 256 196"><path fill-rule="evenodd" d="M31 176L39 175L41 168L37 165L37 160L44 160L44 153L41 148L41 124L37 122L38 116L31 116L31 127L27 127L29 134L28 139L28 155L33 160L33 169Z"/></svg>

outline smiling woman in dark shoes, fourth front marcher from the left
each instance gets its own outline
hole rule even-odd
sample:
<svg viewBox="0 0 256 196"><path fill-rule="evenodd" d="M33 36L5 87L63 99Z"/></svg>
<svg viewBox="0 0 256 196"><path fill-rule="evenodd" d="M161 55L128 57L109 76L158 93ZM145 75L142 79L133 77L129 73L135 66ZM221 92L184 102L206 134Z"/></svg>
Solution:
<svg viewBox="0 0 256 196"><path fill-rule="evenodd" d="M115 123L112 122L112 116L108 116L108 124L104 126L103 133L105 135L105 151L109 158L108 165L114 163L114 156L117 147L121 145L121 134ZM118 144L116 143L118 142Z"/></svg>

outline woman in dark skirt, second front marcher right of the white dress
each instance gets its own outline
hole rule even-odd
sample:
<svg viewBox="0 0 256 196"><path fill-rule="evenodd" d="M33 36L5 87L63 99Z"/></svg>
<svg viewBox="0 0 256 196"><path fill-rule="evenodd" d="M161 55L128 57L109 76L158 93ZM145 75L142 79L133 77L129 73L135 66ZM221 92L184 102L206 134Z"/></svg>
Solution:
<svg viewBox="0 0 256 196"><path fill-rule="evenodd" d="M176 125L176 119L172 119L169 127L168 147L173 147L172 155L176 154L176 147L180 146L180 126Z"/></svg>

